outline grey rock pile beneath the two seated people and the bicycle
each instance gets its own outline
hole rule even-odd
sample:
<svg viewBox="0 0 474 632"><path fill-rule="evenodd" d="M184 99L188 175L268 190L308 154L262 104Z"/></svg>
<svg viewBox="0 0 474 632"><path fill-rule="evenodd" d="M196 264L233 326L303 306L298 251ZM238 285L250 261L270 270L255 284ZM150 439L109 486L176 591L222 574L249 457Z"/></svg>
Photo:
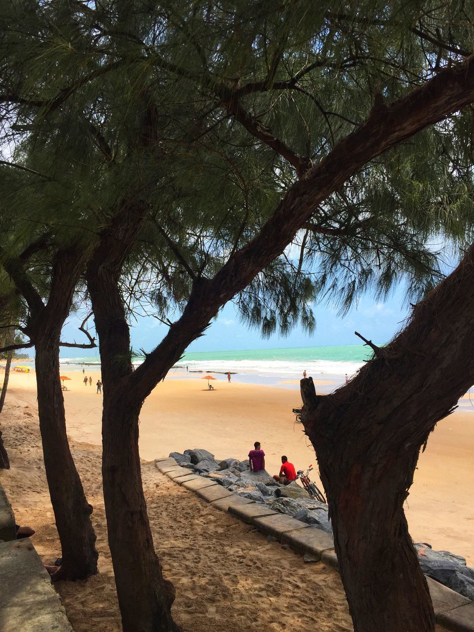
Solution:
<svg viewBox="0 0 474 632"><path fill-rule="evenodd" d="M229 492L243 496L273 511L286 514L317 529L331 533L327 505L313 500L298 483L280 485L267 471L252 472L248 459L229 458L216 461L214 454L203 449L169 454L176 463L205 478L216 481Z"/></svg>

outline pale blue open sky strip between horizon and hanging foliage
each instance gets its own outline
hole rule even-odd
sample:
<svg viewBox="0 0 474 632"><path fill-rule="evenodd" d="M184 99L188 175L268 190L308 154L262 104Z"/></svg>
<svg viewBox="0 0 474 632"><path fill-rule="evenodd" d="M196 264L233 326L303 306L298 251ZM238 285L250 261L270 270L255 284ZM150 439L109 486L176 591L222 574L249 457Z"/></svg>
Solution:
<svg viewBox="0 0 474 632"><path fill-rule="evenodd" d="M300 327L287 337L274 334L269 339L260 336L257 329L248 329L238 318L232 303L228 303L219 313L216 320L207 329L205 336L191 343L188 351L237 351L246 349L275 349L308 346L333 346L340 344L363 344L354 332L377 344L387 343L401 329L404 320L410 313L410 305L404 300L404 289L398 288L386 301L374 301L363 298L345 317L339 317L336 310L327 306L314 308L317 322L316 331L310 336ZM82 332L78 331L82 319L71 315L63 328L64 342L87 342ZM88 330L95 335L92 318L88 322ZM166 335L167 327L153 317L143 317L134 322L131 333L131 344L135 351L143 348L151 351ZM61 348L61 358L95 356L97 349Z"/></svg>

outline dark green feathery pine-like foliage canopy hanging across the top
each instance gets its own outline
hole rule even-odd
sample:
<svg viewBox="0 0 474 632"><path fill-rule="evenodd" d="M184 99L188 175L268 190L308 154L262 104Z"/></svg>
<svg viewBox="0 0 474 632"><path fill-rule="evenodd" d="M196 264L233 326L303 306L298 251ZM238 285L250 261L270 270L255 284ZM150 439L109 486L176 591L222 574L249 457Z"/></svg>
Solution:
<svg viewBox="0 0 474 632"><path fill-rule="evenodd" d="M308 165L474 50L471 4L4 1L4 253L47 236L30 259L46 292L55 248L146 205L124 300L173 317ZM355 174L236 296L243 319L311 331L315 301L432 287L437 250L472 238L471 128L454 114Z"/></svg>

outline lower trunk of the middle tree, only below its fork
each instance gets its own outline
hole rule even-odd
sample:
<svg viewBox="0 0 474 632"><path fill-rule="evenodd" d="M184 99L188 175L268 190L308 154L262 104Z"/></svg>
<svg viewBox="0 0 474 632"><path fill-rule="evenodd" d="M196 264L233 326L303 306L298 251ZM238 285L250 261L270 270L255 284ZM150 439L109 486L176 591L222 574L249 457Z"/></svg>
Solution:
<svg viewBox="0 0 474 632"><path fill-rule="evenodd" d="M110 377L110 376L109 376ZM102 480L124 632L172 632L174 587L155 554L138 454L141 403L104 375Z"/></svg>

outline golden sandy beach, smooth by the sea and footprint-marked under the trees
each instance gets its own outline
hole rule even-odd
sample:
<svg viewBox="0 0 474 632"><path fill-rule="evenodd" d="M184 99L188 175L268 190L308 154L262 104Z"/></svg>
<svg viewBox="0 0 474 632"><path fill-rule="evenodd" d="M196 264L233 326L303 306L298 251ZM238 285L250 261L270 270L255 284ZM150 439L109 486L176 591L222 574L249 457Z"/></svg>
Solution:
<svg viewBox="0 0 474 632"><path fill-rule="evenodd" d="M68 435L94 506L100 574L87 582L63 583L58 590L76 631L115 632L119 614L100 489L101 396L95 392L99 373L87 372L92 386L83 384L80 372L64 373L71 377L64 392ZM291 413L301 403L297 390L228 384L223 378L213 382L214 391L207 391L205 380L186 374L174 374L157 386L140 416L144 461L190 447L204 447L217 459L245 458L253 442L260 441L270 473L278 471L281 454L298 468L315 465L312 447ZM2 471L0 480L17 521L37 530L35 547L45 562L54 561L59 544L42 465L34 373L12 372L0 422L11 459L11 470ZM405 507L416 542L463 555L471 565L473 457L474 416L454 413L430 437ZM316 472L313 479L317 480ZM143 484L164 572L177 588L174 616L185 629L217 632L222 621L232 621L238 632L262 626L291 626L293 632L352 629L336 571L304 564L291 550L267 542L162 477L153 463L143 463ZM313 595L312 607L301 597L303 585Z"/></svg>

